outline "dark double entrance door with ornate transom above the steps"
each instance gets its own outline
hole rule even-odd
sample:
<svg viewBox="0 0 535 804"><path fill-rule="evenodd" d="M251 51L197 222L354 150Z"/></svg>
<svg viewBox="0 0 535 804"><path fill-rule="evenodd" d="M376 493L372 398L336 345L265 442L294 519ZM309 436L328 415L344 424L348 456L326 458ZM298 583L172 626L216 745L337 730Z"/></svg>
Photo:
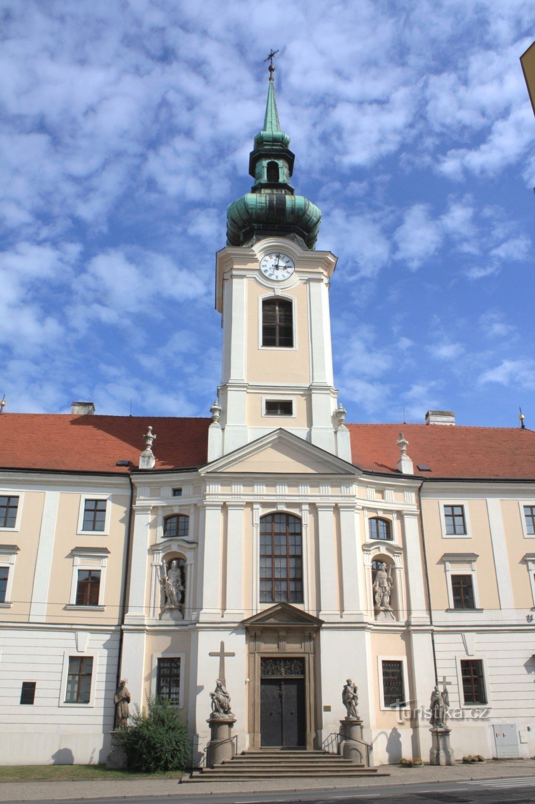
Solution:
<svg viewBox="0 0 535 804"><path fill-rule="evenodd" d="M304 660L262 658L260 740L263 748L305 745Z"/></svg>

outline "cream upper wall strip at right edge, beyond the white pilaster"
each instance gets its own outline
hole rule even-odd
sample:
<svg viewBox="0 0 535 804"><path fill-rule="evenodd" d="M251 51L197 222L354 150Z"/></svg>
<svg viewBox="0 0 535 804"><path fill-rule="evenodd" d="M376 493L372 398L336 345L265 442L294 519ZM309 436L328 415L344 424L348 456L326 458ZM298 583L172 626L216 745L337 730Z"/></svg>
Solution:
<svg viewBox="0 0 535 804"><path fill-rule="evenodd" d="M535 553L535 538L525 538L522 527L524 509L518 500L501 500L500 505L515 608L531 609L533 595L524 556L526 553Z"/></svg>

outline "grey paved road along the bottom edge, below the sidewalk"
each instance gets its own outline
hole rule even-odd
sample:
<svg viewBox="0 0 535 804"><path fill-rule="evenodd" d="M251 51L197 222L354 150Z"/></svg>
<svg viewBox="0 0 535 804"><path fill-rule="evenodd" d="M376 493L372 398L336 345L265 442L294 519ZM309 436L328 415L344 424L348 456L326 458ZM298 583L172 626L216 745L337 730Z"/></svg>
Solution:
<svg viewBox="0 0 535 804"><path fill-rule="evenodd" d="M101 804L115 802L117 798L64 798L63 804ZM20 802L21 799L19 799ZM57 799L50 799L50 802ZM188 790L187 794L175 796L129 796L135 804L535 804L535 776L500 777L478 781L440 782L406 785L385 785L353 789L325 790L318 796L318 790L296 790L287 793L259 794L211 794L202 790ZM40 804L49 804L43 799Z"/></svg>

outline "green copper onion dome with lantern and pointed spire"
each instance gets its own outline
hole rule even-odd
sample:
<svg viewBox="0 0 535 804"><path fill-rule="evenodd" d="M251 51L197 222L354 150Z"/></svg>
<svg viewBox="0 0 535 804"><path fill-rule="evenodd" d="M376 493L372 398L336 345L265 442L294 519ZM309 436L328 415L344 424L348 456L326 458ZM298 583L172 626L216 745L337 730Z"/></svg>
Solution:
<svg viewBox="0 0 535 804"><path fill-rule="evenodd" d="M249 174L255 183L250 193L227 209L227 245L251 246L263 237L279 236L312 249L321 212L303 195L294 195L290 184L294 155L288 149L290 137L280 130L273 70L270 67L263 129L249 158Z"/></svg>

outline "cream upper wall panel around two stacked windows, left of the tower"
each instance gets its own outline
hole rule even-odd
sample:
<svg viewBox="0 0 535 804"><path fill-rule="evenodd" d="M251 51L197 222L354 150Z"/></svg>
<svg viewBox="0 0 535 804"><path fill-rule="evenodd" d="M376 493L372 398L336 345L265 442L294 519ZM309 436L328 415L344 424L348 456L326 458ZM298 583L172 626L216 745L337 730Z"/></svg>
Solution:
<svg viewBox="0 0 535 804"><path fill-rule="evenodd" d="M80 494L59 495L58 517L55 528L54 556L51 565L51 576L47 604L47 621L66 621L65 605L70 603L71 581L73 572L73 556L71 550L76 547L108 548L109 556L106 566L104 585L105 612L84 612L76 609L68 616L71 621L98 623L110 626L120 621L120 605L122 603L122 582L125 566L126 533L129 509L128 494L112 494L109 532L103 534L77 535L80 515ZM83 496L90 496L84 494ZM100 568L97 560L84 559L84 564Z"/></svg>

